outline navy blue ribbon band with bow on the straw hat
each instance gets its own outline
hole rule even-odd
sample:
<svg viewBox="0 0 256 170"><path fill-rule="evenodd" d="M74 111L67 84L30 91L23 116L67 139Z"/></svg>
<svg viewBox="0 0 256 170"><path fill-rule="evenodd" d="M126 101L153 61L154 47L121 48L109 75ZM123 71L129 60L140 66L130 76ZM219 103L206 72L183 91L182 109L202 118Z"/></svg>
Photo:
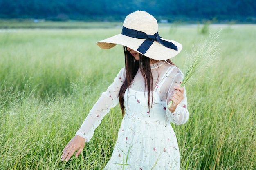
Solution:
<svg viewBox="0 0 256 170"><path fill-rule="evenodd" d="M153 44L154 41L159 42L160 44L162 44L163 46L169 49L174 49L178 51L177 46L175 46L172 42L162 40L158 33L155 33L154 35L148 35L144 32L137 31L134 29L128 29L123 26L121 34L126 35L128 37L132 37L132 38L146 39L137 49L142 54L145 54L146 51L148 51L149 47Z"/></svg>

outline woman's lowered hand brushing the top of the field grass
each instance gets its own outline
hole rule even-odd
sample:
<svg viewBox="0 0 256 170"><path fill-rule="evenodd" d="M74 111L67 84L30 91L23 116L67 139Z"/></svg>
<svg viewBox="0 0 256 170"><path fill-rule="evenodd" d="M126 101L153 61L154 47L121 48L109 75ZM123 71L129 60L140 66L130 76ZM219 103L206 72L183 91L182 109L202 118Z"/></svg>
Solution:
<svg viewBox="0 0 256 170"><path fill-rule="evenodd" d="M80 155L80 153L83 151L83 148L85 146L85 139L83 137L80 137L78 135L74 136L65 146L63 149L63 154L61 155L61 161L68 161L70 157L76 152L76 157Z"/></svg>

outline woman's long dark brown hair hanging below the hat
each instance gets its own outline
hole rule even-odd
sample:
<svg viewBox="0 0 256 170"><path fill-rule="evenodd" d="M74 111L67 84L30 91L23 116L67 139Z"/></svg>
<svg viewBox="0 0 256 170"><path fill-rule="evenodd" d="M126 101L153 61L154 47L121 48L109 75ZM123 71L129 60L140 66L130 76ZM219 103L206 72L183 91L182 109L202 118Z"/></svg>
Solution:
<svg viewBox="0 0 256 170"><path fill-rule="evenodd" d="M151 91L153 90L153 76L150 66L150 58L140 54L139 60L135 60L131 53L127 50L126 46L124 47L124 58L125 58L125 69L126 69L126 79L124 84L121 86L119 91L119 103L121 106L122 114L124 117L125 108L124 108L124 93L126 89L132 84L137 71L141 70L142 76L145 81L145 91L148 91L148 108L150 108L150 100L153 102L153 96L151 96ZM169 64L173 64L171 60L166 60ZM173 64L174 65L174 64Z"/></svg>

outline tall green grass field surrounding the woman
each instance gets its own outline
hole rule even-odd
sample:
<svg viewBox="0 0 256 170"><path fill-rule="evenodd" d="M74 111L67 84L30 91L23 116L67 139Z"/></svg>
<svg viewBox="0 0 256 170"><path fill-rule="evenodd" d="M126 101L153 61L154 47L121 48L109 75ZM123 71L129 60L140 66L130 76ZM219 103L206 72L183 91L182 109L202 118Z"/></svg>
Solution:
<svg viewBox="0 0 256 170"><path fill-rule="evenodd" d="M216 32L220 26L210 26ZM83 155L61 151L94 102L124 66L120 45L95 42L121 28L0 30L0 169L101 170L117 139L119 106L94 133ZM189 121L173 125L182 170L256 169L256 25L224 26L220 63L186 85ZM159 35L183 44L173 62L183 69L198 27L164 26Z"/></svg>

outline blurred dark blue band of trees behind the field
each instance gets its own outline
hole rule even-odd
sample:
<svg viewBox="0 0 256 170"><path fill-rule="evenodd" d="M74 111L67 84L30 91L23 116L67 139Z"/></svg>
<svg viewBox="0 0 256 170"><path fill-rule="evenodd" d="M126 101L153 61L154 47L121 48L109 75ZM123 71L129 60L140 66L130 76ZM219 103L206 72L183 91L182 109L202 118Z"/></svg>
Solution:
<svg viewBox="0 0 256 170"><path fill-rule="evenodd" d="M137 10L169 21L256 22L255 0L0 0L0 18L122 21Z"/></svg>

